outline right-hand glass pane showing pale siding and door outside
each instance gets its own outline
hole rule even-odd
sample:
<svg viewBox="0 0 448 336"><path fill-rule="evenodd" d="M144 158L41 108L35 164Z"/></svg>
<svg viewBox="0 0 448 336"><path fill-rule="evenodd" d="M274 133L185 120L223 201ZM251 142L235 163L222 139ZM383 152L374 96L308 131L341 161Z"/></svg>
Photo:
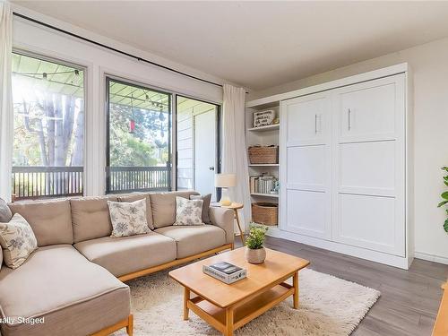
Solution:
<svg viewBox="0 0 448 336"><path fill-rule="evenodd" d="M220 169L220 107L177 96L177 190L194 189L216 201Z"/></svg>

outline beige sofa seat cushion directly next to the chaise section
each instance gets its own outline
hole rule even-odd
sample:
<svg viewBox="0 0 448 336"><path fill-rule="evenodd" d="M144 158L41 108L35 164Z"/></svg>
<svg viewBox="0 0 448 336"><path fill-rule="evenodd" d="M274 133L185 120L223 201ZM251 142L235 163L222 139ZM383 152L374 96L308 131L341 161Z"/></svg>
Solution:
<svg viewBox="0 0 448 336"><path fill-rule="evenodd" d="M155 232L133 237L92 239L74 247L90 262L98 263L116 277L176 259L176 242Z"/></svg>

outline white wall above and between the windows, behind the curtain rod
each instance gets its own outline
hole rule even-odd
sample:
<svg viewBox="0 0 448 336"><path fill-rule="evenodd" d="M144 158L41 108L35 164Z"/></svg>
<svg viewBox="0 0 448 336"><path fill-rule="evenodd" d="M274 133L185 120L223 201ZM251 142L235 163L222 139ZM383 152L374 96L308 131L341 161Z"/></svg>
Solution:
<svg viewBox="0 0 448 336"><path fill-rule="evenodd" d="M47 22L56 27L69 30L104 43L111 47L125 50L128 53L142 56L156 63L175 67L177 70L194 74L213 82L224 82L211 75L201 73L184 65L178 65L159 56L148 54L134 47L126 46L114 40L96 35L88 30L59 22L40 13L34 13L20 6L13 5L13 10L34 19ZM113 74L148 86L170 90L199 99L220 104L222 88L200 82L183 75L169 72L157 66L141 63L133 58L122 56L102 47L96 47L81 39L72 38L50 30L38 24L14 17L13 47L82 65L87 69L87 107L84 150L84 171L86 195L104 194L105 162L106 162L106 119L105 119L105 76ZM174 142L174 139L173 139Z"/></svg>

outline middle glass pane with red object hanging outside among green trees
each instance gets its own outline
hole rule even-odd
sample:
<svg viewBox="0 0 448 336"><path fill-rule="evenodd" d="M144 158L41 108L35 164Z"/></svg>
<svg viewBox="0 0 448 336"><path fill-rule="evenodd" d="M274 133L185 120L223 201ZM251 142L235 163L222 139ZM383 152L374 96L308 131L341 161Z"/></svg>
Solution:
<svg viewBox="0 0 448 336"><path fill-rule="evenodd" d="M171 95L107 78L106 193L171 190Z"/></svg>

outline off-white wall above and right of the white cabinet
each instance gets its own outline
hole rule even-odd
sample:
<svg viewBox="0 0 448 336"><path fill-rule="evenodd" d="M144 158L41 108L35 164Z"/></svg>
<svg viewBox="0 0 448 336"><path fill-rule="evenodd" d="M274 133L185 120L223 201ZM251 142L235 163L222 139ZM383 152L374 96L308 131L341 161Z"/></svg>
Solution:
<svg viewBox="0 0 448 336"><path fill-rule="evenodd" d="M414 192L416 257L448 263L445 211L436 207L448 165L448 39L377 57L327 73L254 92L250 99L297 90L349 75L408 62L414 80Z"/></svg>

